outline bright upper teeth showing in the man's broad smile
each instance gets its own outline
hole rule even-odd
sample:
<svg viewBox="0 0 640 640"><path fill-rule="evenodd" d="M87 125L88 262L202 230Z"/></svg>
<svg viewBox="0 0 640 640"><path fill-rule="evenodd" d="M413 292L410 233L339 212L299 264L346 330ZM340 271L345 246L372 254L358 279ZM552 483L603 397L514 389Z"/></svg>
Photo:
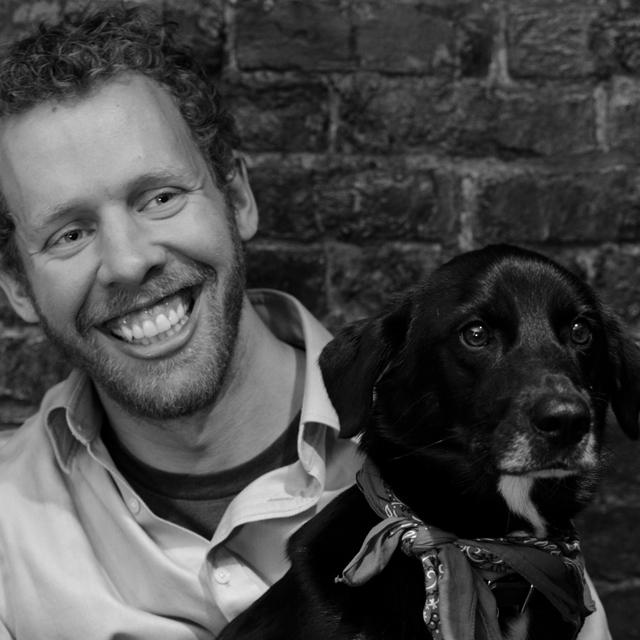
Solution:
<svg viewBox="0 0 640 640"><path fill-rule="evenodd" d="M112 324L111 331L127 342L151 344L154 338L170 337L187 322L187 309L179 296L141 312L124 316Z"/></svg>

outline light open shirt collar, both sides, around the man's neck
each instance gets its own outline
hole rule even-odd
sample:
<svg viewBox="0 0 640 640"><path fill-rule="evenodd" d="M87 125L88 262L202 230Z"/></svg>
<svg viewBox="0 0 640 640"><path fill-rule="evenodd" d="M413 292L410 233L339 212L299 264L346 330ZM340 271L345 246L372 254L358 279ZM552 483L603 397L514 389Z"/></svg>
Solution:
<svg viewBox="0 0 640 640"><path fill-rule="evenodd" d="M339 431L338 416L318 366L320 352L331 334L293 296L271 289L254 289L248 293L256 312L276 337L306 352L301 425L304 428L320 423ZM78 447L88 446L102 425L102 406L89 377L80 370L72 371L66 380L47 392L42 401L42 412L56 458L68 472ZM314 466L312 460L306 458L301 456L303 465Z"/></svg>

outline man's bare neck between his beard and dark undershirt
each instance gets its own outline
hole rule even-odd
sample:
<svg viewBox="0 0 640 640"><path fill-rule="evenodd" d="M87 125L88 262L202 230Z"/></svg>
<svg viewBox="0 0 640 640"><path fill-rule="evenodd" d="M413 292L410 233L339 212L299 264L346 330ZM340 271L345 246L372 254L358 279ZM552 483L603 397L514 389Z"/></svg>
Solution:
<svg viewBox="0 0 640 640"><path fill-rule="evenodd" d="M142 462L174 473L211 473L257 455L302 404L304 355L278 340L247 299L236 348L213 406L171 420L132 416L98 395L122 445Z"/></svg>

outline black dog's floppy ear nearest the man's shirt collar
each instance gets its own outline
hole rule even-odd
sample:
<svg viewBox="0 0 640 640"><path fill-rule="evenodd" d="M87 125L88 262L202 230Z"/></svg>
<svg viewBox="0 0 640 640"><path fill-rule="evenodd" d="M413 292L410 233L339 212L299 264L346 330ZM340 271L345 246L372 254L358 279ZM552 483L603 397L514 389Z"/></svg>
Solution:
<svg viewBox="0 0 640 640"><path fill-rule="evenodd" d="M374 386L404 345L410 322L411 301L406 298L383 316L347 325L320 354L342 438L356 435L371 417Z"/></svg>

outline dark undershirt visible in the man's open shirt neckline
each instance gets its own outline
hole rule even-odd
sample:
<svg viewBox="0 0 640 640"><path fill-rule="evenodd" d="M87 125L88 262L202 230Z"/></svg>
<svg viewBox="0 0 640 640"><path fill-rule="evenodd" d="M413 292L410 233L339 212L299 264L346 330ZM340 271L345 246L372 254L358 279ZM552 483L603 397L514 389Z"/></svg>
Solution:
<svg viewBox="0 0 640 640"><path fill-rule="evenodd" d="M300 414L262 453L237 467L204 474L161 471L127 451L108 423L100 433L113 462L157 516L211 539L229 503L250 482L298 459Z"/></svg>

